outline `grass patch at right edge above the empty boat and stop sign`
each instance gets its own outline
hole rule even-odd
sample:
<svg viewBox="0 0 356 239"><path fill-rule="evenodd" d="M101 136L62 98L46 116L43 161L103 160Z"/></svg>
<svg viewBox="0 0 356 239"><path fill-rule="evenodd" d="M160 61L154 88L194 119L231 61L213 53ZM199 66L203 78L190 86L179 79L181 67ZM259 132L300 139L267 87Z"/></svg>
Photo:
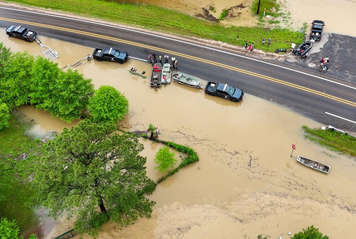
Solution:
<svg viewBox="0 0 356 239"><path fill-rule="evenodd" d="M356 157L356 138L337 131L311 129L307 126L302 127L307 133L305 137L323 146L328 145L333 151L350 154Z"/></svg>

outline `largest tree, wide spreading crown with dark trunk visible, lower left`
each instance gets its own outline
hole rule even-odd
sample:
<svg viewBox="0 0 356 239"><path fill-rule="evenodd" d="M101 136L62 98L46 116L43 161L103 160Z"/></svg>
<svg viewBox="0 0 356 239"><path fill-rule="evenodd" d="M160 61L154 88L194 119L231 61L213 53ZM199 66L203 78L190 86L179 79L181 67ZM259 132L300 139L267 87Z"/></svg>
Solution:
<svg viewBox="0 0 356 239"><path fill-rule="evenodd" d="M75 215L74 228L92 236L107 219L123 227L150 218L155 202L145 194L155 183L138 154L143 145L135 135L113 134L116 129L115 123L83 120L49 141L35 169L34 203L55 219Z"/></svg>

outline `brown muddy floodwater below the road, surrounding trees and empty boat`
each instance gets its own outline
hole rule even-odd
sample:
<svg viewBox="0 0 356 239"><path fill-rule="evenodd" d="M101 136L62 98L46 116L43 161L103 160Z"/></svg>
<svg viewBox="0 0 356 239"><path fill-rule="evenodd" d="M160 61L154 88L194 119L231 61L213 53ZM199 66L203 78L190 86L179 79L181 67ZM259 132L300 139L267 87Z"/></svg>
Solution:
<svg viewBox="0 0 356 239"><path fill-rule="evenodd" d="M36 42L4 35L0 40L5 46L40 54ZM56 62L61 67L93 51L40 39L58 51ZM73 59L73 52L78 59ZM320 123L248 94L242 102L232 103L176 82L155 91L148 78L132 75L131 67L150 75L150 64L133 59L122 65L91 60L78 71L91 78L95 88L111 85L125 94L130 112L121 128L144 130L153 123L159 138L192 147L200 160L157 186L149 196L156 202L152 218L138 219L122 230L107 223L99 238L257 238L259 234L288 238L288 232L312 224L330 238L354 237L356 161L304 138L303 125L320 127ZM67 124L31 106L19 110L38 124L31 129L33 134L60 133L78 122ZM141 142L149 161L148 176L157 179L152 158L161 146ZM297 149L290 157L293 143ZM298 154L329 165L330 173L298 166ZM44 237L66 232L72 223L61 219Z"/></svg>

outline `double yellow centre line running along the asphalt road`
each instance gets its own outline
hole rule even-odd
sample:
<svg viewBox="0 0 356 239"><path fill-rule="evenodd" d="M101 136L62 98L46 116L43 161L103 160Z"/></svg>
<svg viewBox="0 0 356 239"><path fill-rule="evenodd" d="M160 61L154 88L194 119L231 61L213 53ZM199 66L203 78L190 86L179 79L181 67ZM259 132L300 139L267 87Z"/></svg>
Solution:
<svg viewBox="0 0 356 239"><path fill-rule="evenodd" d="M219 62L214 62L214 61L201 59L199 57L190 56L190 55L182 54L182 53L179 53L179 52L174 52L174 51L162 49L162 48L159 48L159 47L149 46L149 45L145 45L145 44L141 44L141 43L137 43L137 42L132 42L132 41L126 41L126 40L122 40L122 39L118 39L118 38L110 37L110 36L103 36L103 35L94 34L94 33L86 32L86 31L79 31L79 30L68 29L68 28L65 28L65 27L41 24L41 23L37 23L37 22L28 22L28 21L10 19L10 18L5 18L5 17L0 17L0 20L11 21L11 22L19 22L19 23L23 23L23 24L46 27L46 28L60 30L60 31L73 32L73 33L92 36L92 37L97 37L97 38L101 38L101 39L105 39L105 40L117 41L117 42L129 44L129 45L133 45L133 46L146 48L146 49L157 50L157 51L161 51L161 52L167 52L169 54L173 54L173 55L176 55L176 56L181 56L181 57L185 57L185 58L188 58L188 59L193 59L195 61L208 63L210 65L223 67L223 68L226 68L226 69L229 69L229 70L245 73L247 75L255 76L255 77L262 78L262 79L265 79L265 80L268 80L268 81L273 81L273 82L276 82L276 83L279 83L279 84L282 84L282 85L286 85L286 86L293 87L293 88L296 88L296 89L299 89L299 90L307 91L307 92L313 93L315 95L323 96L325 98L329 98L331 100L339 101L341 103L345 103L347 105L351 105L351 106L356 107L356 103L355 102L344 100L342 98L339 98L339 97L336 97L336 96L332 96L332 95L329 95L329 94L326 94L326 93L323 93L323 92L320 92L320 91L316 91L316 90L313 90L313 89L310 89L310 88L307 88L307 87L304 87L304 86L299 86L299 85L296 85L296 84L293 84L293 83L290 83L290 82L287 82L287 81L282 81L282 80L278 80L276 78L272 78L272 77L269 77L269 76L261 75L261 74L255 73L255 72L246 71L246 70L234 67L234 66L229 66L229 65L225 65L225 64L222 64L222 63L219 63Z"/></svg>

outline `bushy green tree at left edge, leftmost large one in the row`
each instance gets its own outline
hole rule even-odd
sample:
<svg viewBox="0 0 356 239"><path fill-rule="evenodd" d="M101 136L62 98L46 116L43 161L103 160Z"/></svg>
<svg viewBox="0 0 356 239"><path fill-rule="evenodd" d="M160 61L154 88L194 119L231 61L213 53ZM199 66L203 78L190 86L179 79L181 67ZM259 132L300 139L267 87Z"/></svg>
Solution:
<svg viewBox="0 0 356 239"><path fill-rule="evenodd" d="M25 105L30 102L31 68L33 56L26 52L12 54L4 63L0 77L0 101L10 108Z"/></svg>

